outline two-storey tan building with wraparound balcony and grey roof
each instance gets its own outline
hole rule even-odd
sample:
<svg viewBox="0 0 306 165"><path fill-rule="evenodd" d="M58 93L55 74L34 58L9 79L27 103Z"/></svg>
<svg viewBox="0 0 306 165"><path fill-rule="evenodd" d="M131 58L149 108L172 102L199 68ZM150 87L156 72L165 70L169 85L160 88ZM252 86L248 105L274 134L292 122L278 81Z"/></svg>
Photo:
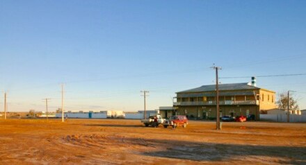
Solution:
<svg viewBox="0 0 306 165"><path fill-rule="evenodd" d="M173 108L176 114L191 119L216 119L216 85L204 85L195 89L177 92ZM220 116L252 116L259 120L259 114L273 110L275 92L256 87L255 83L219 85Z"/></svg>

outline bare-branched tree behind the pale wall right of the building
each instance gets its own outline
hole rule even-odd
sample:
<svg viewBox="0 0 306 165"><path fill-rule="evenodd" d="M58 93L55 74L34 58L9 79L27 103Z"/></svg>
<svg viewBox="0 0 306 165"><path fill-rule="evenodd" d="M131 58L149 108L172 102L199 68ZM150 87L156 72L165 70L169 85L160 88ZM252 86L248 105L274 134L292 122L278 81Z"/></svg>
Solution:
<svg viewBox="0 0 306 165"><path fill-rule="evenodd" d="M279 95L279 100L276 102L278 108L282 110L287 110L288 108L288 94L282 93ZM293 98L293 96L289 96L290 110L299 110L298 101Z"/></svg>

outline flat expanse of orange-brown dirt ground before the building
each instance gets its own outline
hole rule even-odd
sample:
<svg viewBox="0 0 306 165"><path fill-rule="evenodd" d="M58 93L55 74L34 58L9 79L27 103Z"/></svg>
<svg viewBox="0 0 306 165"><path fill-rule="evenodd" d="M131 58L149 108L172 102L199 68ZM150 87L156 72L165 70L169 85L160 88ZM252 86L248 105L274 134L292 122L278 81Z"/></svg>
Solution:
<svg viewBox="0 0 306 165"><path fill-rule="evenodd" d="M306 123L0 119L0 164L306 164Z"/></svg>

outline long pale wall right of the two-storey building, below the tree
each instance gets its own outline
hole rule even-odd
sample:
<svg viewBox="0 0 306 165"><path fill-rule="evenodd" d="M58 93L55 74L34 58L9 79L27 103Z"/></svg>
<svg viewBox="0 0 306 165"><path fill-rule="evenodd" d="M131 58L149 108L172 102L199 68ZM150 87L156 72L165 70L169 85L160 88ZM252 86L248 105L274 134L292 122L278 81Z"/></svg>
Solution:
<svg viewBox="0 0 306 165"><path fill-rule="evenodd" d="M261 121L287 122L287 114L260 114ZM290 114L290 122L306 122L306 115Z"/></svg>

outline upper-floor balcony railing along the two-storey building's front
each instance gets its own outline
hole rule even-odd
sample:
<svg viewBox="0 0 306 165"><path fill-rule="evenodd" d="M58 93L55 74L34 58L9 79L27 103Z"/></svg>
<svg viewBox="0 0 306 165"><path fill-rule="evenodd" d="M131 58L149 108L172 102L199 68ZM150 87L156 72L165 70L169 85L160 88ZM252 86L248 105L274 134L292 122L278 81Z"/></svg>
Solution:
<svg viewBox="0 0 306 165"><path fill-rule="evenodd" d="M192 106L192 105L216 105L216 101L184 101L175 102L173 105ZM219 105L259 105L259 101L219 101Z"/></svg>

